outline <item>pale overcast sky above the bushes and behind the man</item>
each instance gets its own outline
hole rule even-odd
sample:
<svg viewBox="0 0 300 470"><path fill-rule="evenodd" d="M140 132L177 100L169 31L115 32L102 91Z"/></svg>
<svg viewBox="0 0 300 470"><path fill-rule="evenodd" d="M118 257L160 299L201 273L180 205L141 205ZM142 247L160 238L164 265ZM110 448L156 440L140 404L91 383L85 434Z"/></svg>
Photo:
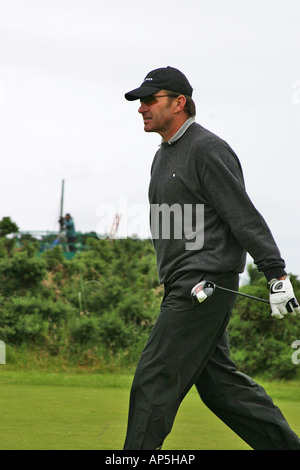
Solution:
<svg viewBox="0 0 300 470"><path fill-rule="evenodd" d="M299 30L299 0L0 0L0 218L58 230L64 179L77 230L110 207L107 224L122 212L120 234L146 236L133 215L160 137L124 93L171 65L299 275Z"/></svg>

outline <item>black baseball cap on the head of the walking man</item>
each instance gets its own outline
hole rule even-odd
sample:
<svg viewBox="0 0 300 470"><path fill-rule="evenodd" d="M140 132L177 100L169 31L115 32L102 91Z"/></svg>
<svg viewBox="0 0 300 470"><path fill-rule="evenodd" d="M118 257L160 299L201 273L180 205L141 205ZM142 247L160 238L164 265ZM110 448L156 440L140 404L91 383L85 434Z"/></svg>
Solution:
<svg viewBox="0 0 300 470"><path fill-rule="evenodd" d="M188 79L180 70L174 67L163 67L149 72L141 86L126 93L125 98L128 101L134 101L152 95L159 90L174 91L188 96L192 96L193 93Z"/></svg>

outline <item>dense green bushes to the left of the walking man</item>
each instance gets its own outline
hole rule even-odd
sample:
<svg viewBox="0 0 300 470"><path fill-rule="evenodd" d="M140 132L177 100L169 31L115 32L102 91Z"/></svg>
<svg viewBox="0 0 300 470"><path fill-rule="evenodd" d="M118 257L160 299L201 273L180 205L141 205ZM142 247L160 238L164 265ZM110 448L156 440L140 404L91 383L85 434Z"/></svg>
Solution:
<svg viewBox="0 0 300 470"><path fill-rule="evenodd" d="M86 352L92 348L93 361L112 356L137 361L128 351L140 351L160 304L152 243L92 239L89 244L89 251L68 261L59 247L40 256L31 243L22 251L5 251L0 338L10 347L26 344L81 362L91 360Z"/></svg>

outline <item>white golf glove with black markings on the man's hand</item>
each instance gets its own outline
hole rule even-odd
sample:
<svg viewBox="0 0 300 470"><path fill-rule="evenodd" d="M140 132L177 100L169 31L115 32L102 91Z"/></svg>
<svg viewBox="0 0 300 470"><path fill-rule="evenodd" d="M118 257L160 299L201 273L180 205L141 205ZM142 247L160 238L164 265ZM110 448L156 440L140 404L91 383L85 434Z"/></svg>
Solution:
<svg viewBox="0 0 300 470"><path fill-rule="evenodd" d="M271 316L283 318L287 313L292 315L300 314L300 306L295 297L290 277L283 280L272 279L270 282L270 305L272 309Z"/></svg>

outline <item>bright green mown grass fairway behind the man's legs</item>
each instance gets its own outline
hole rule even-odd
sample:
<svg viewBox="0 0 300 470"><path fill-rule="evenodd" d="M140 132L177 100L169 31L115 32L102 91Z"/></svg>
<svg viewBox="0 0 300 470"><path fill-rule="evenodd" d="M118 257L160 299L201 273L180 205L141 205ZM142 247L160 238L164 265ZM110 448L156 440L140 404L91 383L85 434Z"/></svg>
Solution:
<svg viewBox="0 0 300 470"><path fill-rule="evenodd" d="M132 378L0 368L0 450L122 449ZM300 435L299 382L263 383ZM192 389L164 450L249 449Z"/></svg>

